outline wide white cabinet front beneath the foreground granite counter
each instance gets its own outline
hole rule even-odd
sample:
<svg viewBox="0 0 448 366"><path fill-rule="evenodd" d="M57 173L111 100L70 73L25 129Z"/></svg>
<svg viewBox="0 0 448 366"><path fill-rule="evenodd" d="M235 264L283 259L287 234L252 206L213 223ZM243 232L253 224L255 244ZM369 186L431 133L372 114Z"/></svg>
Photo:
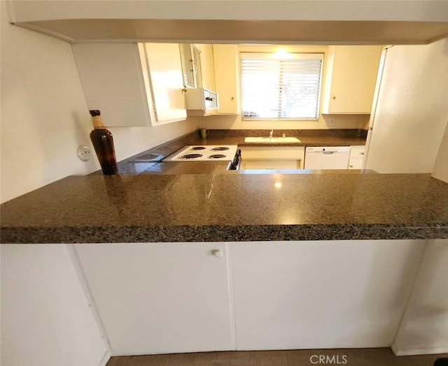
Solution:
<svg viewBox="0 0 448 366"><path fill-rule="evenodd" d="M425 240L76 244L113 355L391 346Z"/></svg>

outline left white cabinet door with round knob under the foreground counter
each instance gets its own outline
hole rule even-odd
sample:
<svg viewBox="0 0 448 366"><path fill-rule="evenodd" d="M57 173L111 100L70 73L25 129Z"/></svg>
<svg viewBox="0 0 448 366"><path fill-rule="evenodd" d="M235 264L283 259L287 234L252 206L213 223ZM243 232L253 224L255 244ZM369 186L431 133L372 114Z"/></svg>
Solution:
<svg viewBox="0 0 448 366"><path fill-rule="evenodd" d="M235 349L226 244L77 244L76 251L114 355Z"/></svg>

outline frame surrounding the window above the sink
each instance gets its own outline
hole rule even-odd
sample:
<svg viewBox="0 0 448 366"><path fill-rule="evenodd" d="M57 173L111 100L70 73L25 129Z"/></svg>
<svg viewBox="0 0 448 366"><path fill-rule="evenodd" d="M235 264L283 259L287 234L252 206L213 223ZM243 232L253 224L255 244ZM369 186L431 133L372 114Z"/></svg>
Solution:
<svg viewBox="0 0 448 366"><path fill-rule="evenodd" d="M321 60L321 72L318 81L318 96L316 117L245 117L243 105L243 59L319 59ZM239 85L241 100L241 121L244 122L317 122L321 115L321 102L323 91L323 74L324 74L325 52L257 52L257 51L241 51L239 52Z"/></svg>

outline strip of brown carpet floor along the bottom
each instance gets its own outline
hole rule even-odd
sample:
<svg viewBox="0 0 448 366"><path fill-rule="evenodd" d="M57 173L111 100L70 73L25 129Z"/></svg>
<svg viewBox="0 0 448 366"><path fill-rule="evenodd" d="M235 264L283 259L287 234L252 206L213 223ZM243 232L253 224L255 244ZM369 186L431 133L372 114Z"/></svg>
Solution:
<svg viewBox="0 0 448 366"><path fill-rule="evenodd" d="M437 358L394 356L391 349L325 349L294 351L226 351L112 357L106 366L433 366Z"/></svg>

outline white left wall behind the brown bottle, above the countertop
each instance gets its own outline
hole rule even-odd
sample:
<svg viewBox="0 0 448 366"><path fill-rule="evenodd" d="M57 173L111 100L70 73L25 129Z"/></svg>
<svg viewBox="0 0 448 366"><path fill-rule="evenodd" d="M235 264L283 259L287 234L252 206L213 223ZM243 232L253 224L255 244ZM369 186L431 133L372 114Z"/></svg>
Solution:
<svg viewBox="0 0 448 366"><path fill-rule="evenodd" d="M1 194L5 202L67 175L99 169L69 43L8 24L1 1ZM195 121L111 129L117 160L196 129ZM78 159L78 145L92 159Z"/></svg>

